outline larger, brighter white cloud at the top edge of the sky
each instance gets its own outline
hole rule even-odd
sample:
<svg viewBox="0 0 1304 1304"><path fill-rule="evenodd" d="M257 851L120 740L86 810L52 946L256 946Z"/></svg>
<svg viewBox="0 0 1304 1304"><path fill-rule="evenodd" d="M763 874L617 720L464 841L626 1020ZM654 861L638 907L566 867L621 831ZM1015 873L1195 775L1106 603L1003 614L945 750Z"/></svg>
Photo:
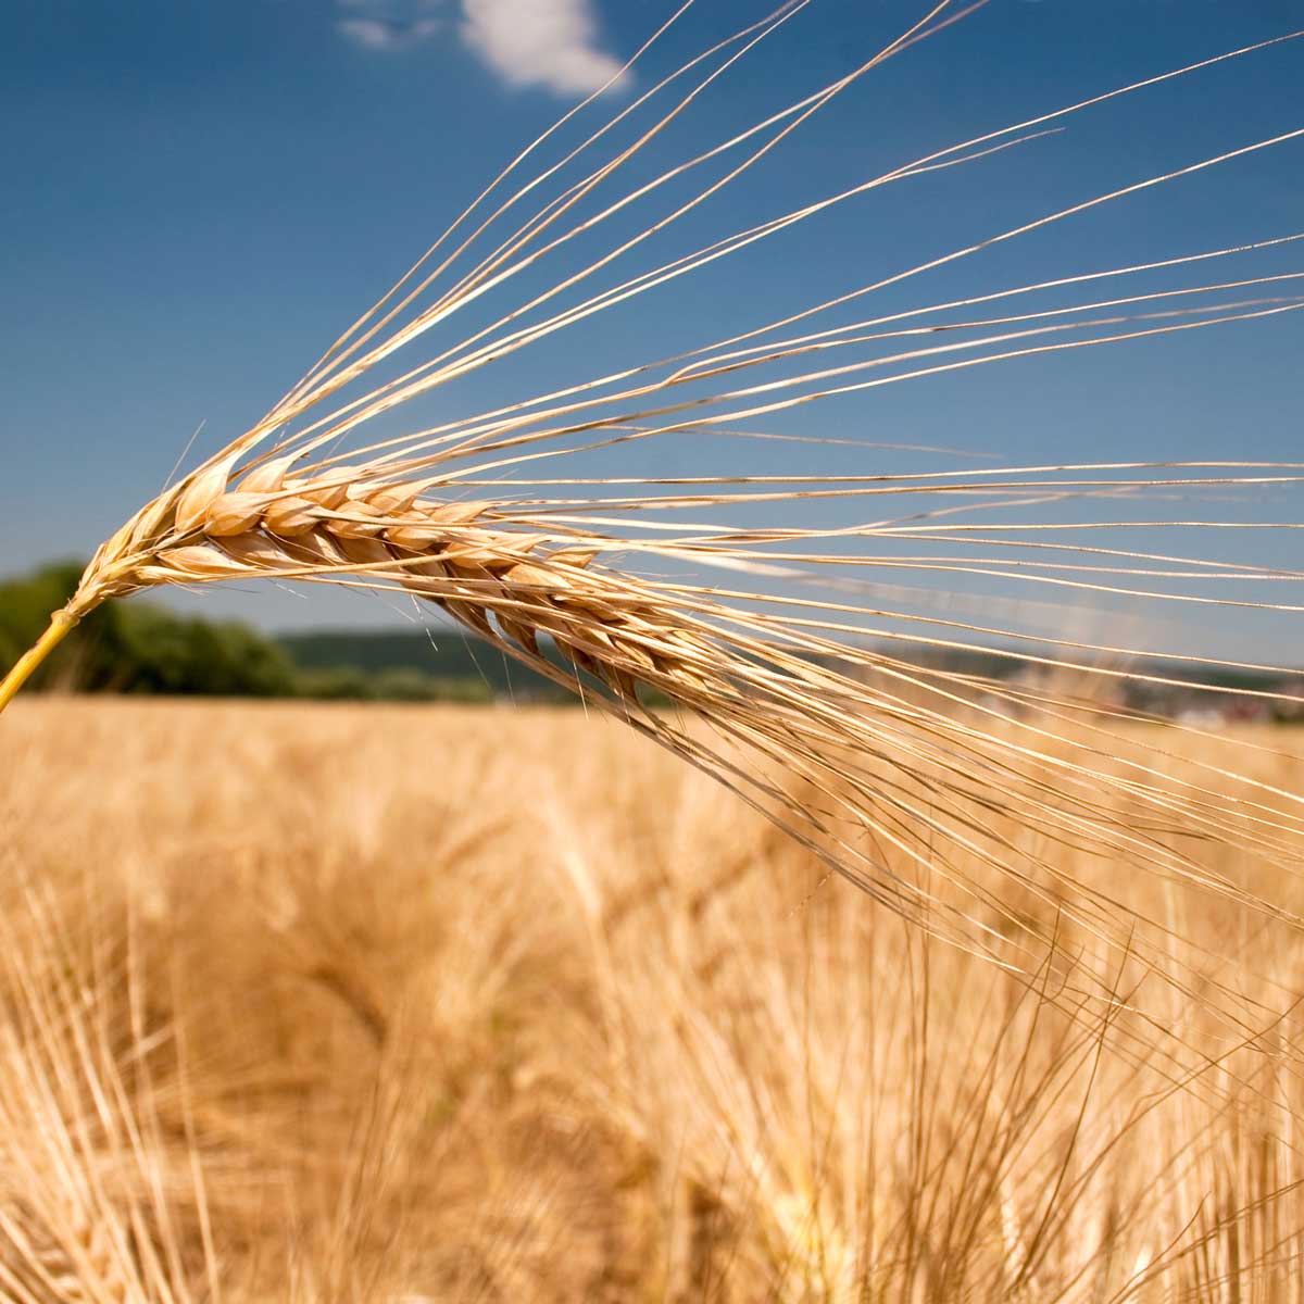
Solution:
<svg viewBox="0 0 1304 1304"><path fill-rule="evenodd" d="M509 86L587 95L621 64L597 48L589 0L462 0L463 40Z"/></svg>

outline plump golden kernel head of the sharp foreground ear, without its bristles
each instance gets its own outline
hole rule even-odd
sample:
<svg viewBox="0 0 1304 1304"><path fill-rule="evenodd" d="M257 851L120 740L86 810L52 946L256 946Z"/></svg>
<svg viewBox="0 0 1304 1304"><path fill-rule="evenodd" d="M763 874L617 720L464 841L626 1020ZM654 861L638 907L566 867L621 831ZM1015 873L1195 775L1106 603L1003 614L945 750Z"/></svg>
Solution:
<svg viewBox="0 0 1304 1304"><path fill-rule="evenodd" d="M343 468L295 479L279 460L232 484L224 464L210 467L99 550L56 622L65 629L104 599L146 585L347 571L387 578L477 634L511 639L531 660L545 636L630 703L644 674L674 685L681 700L703 691L711 649L659 619L627 578L593 566L593 549L496 529L490 503L425 501L419 486L366 476Z"/></svg>

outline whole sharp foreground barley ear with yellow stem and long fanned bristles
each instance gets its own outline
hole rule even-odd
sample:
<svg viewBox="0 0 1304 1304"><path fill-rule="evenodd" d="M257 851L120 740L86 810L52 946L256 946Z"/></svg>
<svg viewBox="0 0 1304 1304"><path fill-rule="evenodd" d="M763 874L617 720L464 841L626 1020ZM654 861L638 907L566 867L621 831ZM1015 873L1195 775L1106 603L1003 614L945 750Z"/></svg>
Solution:
<svg viewBox="0 0 1304 1304"><path fill-rule="evenodd" d="M1299 466L1138 460L910 475L584 480L569 471L567 459L669 436L773 437L739 426L836 395L870 394L974 366L1295 313L1304 306L1304 295L1296 292L1304 279L1299 271L1086 301L1074 296L1102 282L1127 282L1155 270L1288 250L1304 239L1301 233L1015 284L831 327L807 326L819 314L908 284L994 244L1283 146L1304 129L1118 186L705 346L606 374L582 374L524 400L340 451L342 442L368 421L762 245L836 205L939 168L979 164L1068 115L1297 35L1218 55L909 159L835 196L589 291L587 284L618 257L673 230L857 80L966 12L943 0L846 77L589 211L587 205L618 185L630 160L698 95L808 4L785 4L712 46L496 200L556 129L544 133L258 425L149 502L98 549L76 596L0 685L0 708L68 630L110 599L153 585L254 578L390 588L441 608L506 653L601 702L764 810L823 855L831 870L922 926L1007 966L1035 971L1050 931L1063 919L1091 944L1140 958L1184 991L1194 990L1206 957L1189 949L1174 955L1163 921L1120 905L1076 874L1072 857L1060 863L995 832L995 816L1012 819L1074 855L1124 857L1162 883L1214 892L1295 922L1279 900L1215 868L1202 852L1217 844L1261 866L1297 872L1304 845L1299 794L1213 762L1175 775L1161 743L1118 729L1129 717L1121 707L1001 681L979 683L878 647L896 642L944 651L1003 638L1007 642L994 655L1106 685L1171 683L1167 670L1120 665L1119 657L1136 653L1127 643L1073 642L1061 631L1037 635L994 615L990 602L964 619L962 596L941 614L921 615L909 604L927 605L936 595L900 589L875 571L904 567L952 582L995 578L1052 600L1121 593L1179 610L1296 612L1295 604L1256 596L1264 585L1299 580L1294 571L1162 545L1141 550L1060 541L1061 527L1054 522L1004 524L1000 512L1047 502L1101 502L1118 511L1155 494L1290 488L1304 482ZM690 85L681 93L685 80ZM659 96L670 104L653 112ZM606 149L613 128L638 121L643 112L653 120L632 145L612 146L578 180L562 180L585 154ZM544 259L601 235L631 205L660 200L662 192L712 166L725 166L722 176L703 183L687 200L669 201L666 211L635 235L602 245L542 291L518 295L488 325L425 361L364 393L352 389L376 370L396 365L400 349ZM553 183L562 189L545 198ZM518 220L516 210L536 198L539 206ZM493 203L488 215L479 216ZM515 224L496 236L497 244L469 270L456 271L459 259L502 223ZM579 297L553 306L558 296L572 292ZM1050 306L1008 310L1015 301L1047 293L1061 297ZM992 308L998 304L1005 306ZM996 316L985 316L990 312ZM549 476L557 459L561 473ZM468 498L469 493L481 497ZM844 527L741 528L722 516L815 498L863 506L882 501L889 514ZM902 501L909 510L900 507ZM966 514L975 507L991 509L996 523L969 520ZM692 519L682 519L682 512ZM1253 526L1191 515L1124 523L1134 529L1202 528L1214 539ZM1102 511L1101 519L1076 528L1119 524ZM905 544L931 550L893 550ZM729 584L639 574L652 562L694 572L722 570ZM807 593L803 585L811 584L818 591ZM1192 584L1204 592L1188 592ZM1172 657L1228 664L1201 662L1185 648ZM1094 664L1084 666L1084 659ZM1235 668L1283 675L1288 669ZM644 689L685 708L689 719L648 709ZM1261 695L1297 700L1286 691ZM1146 819L1120 822L1120 802L1140 803ZM1015 906L1016 896L1033 908ZM1148 931L1138 935L1138 925ZM1102 979L1097 994L1112 999L1110 991ZM1201 1000L1237 1035L1254 1015L1230 985L1206 986Z"/></svg>

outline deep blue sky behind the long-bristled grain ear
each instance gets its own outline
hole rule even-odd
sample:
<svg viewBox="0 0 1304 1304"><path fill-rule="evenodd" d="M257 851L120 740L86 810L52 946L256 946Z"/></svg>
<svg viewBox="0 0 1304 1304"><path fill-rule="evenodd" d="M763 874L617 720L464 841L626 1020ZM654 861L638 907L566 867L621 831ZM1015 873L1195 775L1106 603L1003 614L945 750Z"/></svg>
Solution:
<svg viewBox="0 0 1304 1304"><path fill-rule="evenodd" d="M597 112L772 4L698 7ZM849 70L923 8L814 0L632 175ZM0 571L89 553L156 492L201 422L196 450L205 452L253 422L516 147L609 77L669 12L661 0L9 0ZM1297 0L991 0L858 82L682 237L743 227L930 149L1292 25L1304 25ZM1304 40L1064 125L840 207L446 402L473 411L575 366L692 347L1304 126ZM1304 143L1294 141L966 259L888 304L1301 230ZM653 245L648 256L679 248ZM1296 245L1237 262L1235 274L1301 266ZM1301 356L1304 319L1294 314L893 386L803 409L789 429L859 441L831 455L857 472L956 464L880 443L1012 463L1292 459ZM784 462L790 450L699 442L634 447L618 467L704 473L743 456L756 472L795 466ZM382 602L317 591L306 601L210 592L202 606L267 627L399 618Z"/></svg>

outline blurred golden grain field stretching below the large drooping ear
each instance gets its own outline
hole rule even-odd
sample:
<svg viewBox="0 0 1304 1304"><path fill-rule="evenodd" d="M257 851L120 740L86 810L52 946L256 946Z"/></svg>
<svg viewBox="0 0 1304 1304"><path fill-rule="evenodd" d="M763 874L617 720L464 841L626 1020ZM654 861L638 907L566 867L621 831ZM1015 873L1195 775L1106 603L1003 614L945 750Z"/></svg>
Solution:
<svg viewBox="0 0 1304 1304"><path fill-rule="evenodd" d="M33 699L0 768L0 1297L1304 1299L1284 923L1120 863L1254 1017L1080 999L580 709Z"/></svg>

